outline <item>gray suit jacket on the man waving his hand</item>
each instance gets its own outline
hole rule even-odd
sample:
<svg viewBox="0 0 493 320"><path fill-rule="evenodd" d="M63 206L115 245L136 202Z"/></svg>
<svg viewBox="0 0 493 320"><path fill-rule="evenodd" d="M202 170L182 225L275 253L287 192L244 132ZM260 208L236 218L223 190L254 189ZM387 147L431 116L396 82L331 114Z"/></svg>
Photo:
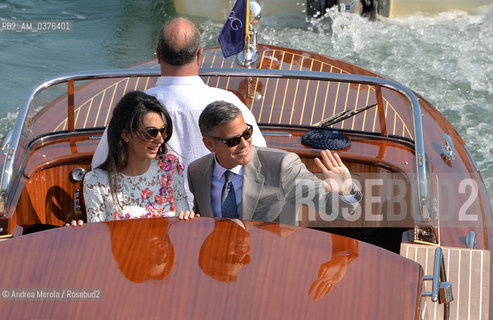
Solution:
<svg viewBox="0 0 493 320"><path fill-rule="evenodd" d="M214 217L211 205L214 156L211 153L197 159L188 168L194 211L203 217ZM297 154L252 146L252 159L244 166L239 218L297 225L302 203L313 203L317 209L322 205L324 211L331 211L333 195L338 198L325 191L322 181L306 169Z"/></svg>

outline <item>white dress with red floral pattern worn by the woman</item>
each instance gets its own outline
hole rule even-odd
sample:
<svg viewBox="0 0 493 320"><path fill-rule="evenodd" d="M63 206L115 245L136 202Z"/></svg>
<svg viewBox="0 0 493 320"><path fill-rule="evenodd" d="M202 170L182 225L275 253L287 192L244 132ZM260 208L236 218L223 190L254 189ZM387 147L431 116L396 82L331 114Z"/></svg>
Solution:
<svg viewBox="0 0 493 320"><path fill-rule="evenodd" d="M183 172L179 158L168 153L153 159L140 176L118 173L114 203L106 170L89 171L84 177L87 222L173 217L189 210Z"/></svg>

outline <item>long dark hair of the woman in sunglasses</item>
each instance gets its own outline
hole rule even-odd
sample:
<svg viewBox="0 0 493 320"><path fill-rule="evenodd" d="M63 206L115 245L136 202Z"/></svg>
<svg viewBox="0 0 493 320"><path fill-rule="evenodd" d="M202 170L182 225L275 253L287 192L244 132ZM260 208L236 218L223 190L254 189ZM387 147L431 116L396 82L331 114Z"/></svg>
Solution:
<svg viewBox="0 0 493 320"><path fill-rule="evenodd" d="M123 130L130 135L145 137L144 116L149 112L155 112L163 117L166 132L163 135L164 142L159 147L158 155L167 152L166 142L173 133L173 123L168 111L159 101L142 91L132 91L125 94L113 109L113 115L108 125L108 158L101 168L108 173L110 191L115 203L117 203L116 190L117 173L123 171L128 164L128 144L122 138Z"/></svg>

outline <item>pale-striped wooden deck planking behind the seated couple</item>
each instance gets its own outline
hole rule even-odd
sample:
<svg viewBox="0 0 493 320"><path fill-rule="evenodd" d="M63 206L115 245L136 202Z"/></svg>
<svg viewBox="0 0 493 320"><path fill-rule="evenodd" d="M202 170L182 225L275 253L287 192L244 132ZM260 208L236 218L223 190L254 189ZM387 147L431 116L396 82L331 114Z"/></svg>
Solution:
<svg viewBox="0 0 493 320"><path fill-rule="evenodd" d="M298 71L322 71L333 73L357 73L376 75L339 60L316 54L301 53L297 50L262 46L262 55L257 65L259 69L279 69ZM157 67L155 61L141 66ZM203 68L235 68L234 58L224 59L217 49L204 51ZM256 116L259 123L288 125L317 125L328 117L341 111L361 108L377 102L375 87L348 83L296 80L261 79L237 77L205 77L204 81L212 87L234 92L242 99ZM97 84L82 86L75 90L75 128L104 127L108 124L111 110L125 92L145 90L155 85L156 78L123 78L104 80ZM91 87L94 89L91 90ZM390 90L382 90L388 134L405 138L413 137L409 124L412 115L405 100ZM62 99L60 103L65 104ZM67 130L67 117L60 114L52 119L53 131ZM46 119L40 121L46 122ZM372 108L342 121L335 128L381 132L378 109ZM46 130L45 127L39 130ZM33 130L37 132L37 130Z"/></svg>

